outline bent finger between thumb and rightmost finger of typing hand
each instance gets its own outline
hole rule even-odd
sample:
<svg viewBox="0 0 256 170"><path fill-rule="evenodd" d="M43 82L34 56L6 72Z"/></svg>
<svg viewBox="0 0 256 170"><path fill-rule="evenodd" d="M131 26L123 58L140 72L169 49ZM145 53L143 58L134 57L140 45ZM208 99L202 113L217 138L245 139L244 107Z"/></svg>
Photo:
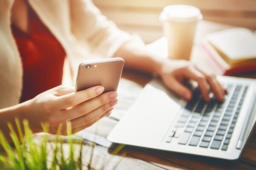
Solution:
<svg viewBox="0 0 256 170"><path fill-rule="evenodd" d="M198 86L201 90L204 100L209 102L209 84L207 83L205 75L199 70L192 67L184 71L184 76L198 82Z"/></svg>

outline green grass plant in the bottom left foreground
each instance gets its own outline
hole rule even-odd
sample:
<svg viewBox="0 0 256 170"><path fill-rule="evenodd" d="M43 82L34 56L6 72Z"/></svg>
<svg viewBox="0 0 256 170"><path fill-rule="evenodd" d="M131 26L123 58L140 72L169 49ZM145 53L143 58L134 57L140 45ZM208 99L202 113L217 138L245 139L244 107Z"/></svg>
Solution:
<svg viewBox="0 0 256 170"><path fill-rule="evenodd" d="M45 135L42 136L41 141L38 143L34 139L28 121L23 121L24 131L17 118L15 122L18 134L15 133L12 124L8 123L14 147L9 144L5 135L0 130L0 146L2 147L0 154L0 170L82 170L82 140L79 155L75 156L70 122L67 123L68 156L65 156L63 151L64 139L60 138L59 133L61 126L58 128L58 134L54 140L54 147L49 149L49 147L47 147L47 132L49 126L46 124L42 125ZM52 154L51 160L48 160L49 154Z"/></svg>

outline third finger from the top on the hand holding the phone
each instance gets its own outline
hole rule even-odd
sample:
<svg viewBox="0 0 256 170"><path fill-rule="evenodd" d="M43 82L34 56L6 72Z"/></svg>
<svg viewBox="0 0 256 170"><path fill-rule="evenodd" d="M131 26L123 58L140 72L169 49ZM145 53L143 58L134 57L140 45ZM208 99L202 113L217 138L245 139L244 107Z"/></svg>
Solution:
<svg viewBox="0 0 256 170"><path fill-rule="evenodd" d="M107 112L109 109L113 107L117 103L117 99L112 100L111 102L98 107L97 109L93 110L92 112L81 116L79 118L71 120L71 124L73 128L80 127L84 124L89 124L99 118L102 114Z"/></svg>

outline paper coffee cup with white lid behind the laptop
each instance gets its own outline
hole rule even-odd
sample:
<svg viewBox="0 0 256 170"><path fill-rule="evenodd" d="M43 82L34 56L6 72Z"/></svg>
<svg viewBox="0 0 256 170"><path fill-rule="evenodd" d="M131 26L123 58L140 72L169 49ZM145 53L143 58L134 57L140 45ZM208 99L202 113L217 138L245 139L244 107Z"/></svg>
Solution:
<svg viewBox="0 0 256 170"><path fill-rule="evenodd" d="M202 19L200 10L194 6L166 6L160 14L163 34L167 38L169 58L189 60L195 29Z"/></svg>

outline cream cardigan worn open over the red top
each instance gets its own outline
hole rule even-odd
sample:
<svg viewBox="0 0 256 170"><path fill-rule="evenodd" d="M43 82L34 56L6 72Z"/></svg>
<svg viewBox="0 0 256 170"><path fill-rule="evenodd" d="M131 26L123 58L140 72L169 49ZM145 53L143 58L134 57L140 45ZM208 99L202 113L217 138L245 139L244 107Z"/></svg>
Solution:
<svg viewBox="0 0 256 170"><path fill-rule="evenodd" d="M0 109L18 104L22 90L22 64L11 32L13 2L0 0ZM74 75L81 61L111 57L131 39L131 35L108 21L91 0L28 2L64 47Z"/></svg>

